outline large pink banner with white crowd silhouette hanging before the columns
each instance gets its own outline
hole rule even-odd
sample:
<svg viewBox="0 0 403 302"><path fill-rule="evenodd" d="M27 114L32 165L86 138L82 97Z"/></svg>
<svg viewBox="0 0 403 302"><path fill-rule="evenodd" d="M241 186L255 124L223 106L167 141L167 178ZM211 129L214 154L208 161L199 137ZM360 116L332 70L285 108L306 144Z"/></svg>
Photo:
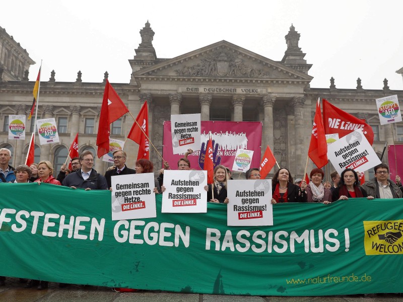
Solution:
<svg viewBox="0 0 403 302"><path fill-rule="evenodd" d="M213 162L214 166L224 165L229 169L234 163L237 149L253 150L251 168L258 168L260 165L261 146L261 122L224 122L224 121L202 121L201 122L201 151L194 151L188 156L192 169L201 170L204 165L209 132L212 132L213 139ZM169 163L172 169L177 168L178 160L182 155L173 155L171 122L164 122L163 158Z"/></svg>

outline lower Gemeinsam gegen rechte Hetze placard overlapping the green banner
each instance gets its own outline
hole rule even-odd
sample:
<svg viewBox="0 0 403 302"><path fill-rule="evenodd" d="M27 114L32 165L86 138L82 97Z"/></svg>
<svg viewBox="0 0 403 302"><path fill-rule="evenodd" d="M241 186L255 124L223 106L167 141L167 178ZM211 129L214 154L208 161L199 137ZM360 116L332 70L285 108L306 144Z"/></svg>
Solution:
<svg viewBox="0 0 403 302"><path fill-rule="evenodd" d="M157 217L154 173L111 177L112 220Z"/></svg>

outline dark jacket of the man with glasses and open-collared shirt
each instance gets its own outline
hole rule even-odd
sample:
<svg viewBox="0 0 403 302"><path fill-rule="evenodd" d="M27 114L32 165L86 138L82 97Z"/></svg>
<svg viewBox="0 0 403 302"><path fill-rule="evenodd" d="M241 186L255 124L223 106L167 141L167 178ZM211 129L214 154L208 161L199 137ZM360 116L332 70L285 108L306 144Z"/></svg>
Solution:
<svg viewBox="0 0 403 302"><path fill-rule="evenodd" d="M86 180L81 176L81 169L70 173L64 178L62 185L83 189L90 188L91 190L109 190L105 177L94 169L91 170L90 177Z"/></svg>

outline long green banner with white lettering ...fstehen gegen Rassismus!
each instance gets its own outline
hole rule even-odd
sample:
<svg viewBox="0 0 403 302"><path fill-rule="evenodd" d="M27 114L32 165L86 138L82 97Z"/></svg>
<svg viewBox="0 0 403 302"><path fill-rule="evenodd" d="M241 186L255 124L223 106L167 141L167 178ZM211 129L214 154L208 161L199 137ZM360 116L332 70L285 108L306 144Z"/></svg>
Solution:
<svg viewBox="0 0 403 302"><path fill-rule="evenodd" d="M3 276L216 294L403 289L402 199L276 204L273 226L252 227L227 226L224 204L161 213L157 195L156 218L112 221L109 191L0 186Z"/></svg>

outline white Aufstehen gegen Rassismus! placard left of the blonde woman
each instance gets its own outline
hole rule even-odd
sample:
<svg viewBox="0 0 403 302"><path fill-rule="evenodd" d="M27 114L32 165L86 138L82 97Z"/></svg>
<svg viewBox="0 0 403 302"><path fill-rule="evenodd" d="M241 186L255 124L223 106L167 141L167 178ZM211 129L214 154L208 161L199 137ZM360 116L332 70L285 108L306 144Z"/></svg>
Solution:
<svg viewBox="0 0 403 302"><path fill-rule="evenodd" d="M164 186L161 212L207 212L207 171L165 170Z"/></svg>

